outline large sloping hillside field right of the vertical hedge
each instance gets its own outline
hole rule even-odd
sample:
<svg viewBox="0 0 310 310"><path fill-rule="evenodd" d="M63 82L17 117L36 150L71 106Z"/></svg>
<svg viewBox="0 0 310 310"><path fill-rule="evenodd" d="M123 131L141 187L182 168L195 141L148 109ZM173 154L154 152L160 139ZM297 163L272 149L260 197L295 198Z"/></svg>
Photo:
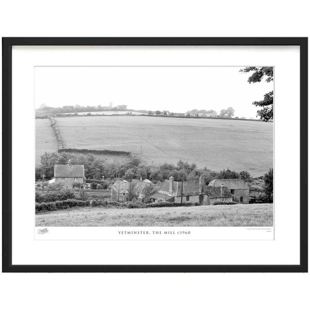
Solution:
<svg viewBox="0 0 310 310"><path fill-rule="evenodd" d="M142 145L142 161L147 163L182 159L217 171L248 170L252 176L273 166L273 123L146 116L56 120L67 148L130 151L140 156Z"/></svg>

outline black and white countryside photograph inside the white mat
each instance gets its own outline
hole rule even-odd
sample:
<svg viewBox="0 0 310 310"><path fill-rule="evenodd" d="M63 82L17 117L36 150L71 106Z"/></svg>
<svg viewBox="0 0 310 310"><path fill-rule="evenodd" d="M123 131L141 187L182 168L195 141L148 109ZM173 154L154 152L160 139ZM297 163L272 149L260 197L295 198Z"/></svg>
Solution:
<svg viewBox="0 0 310 310"><path fill-rule="evenodd" d="M35 66L35 226L273 227L273 66Z"/></svg>

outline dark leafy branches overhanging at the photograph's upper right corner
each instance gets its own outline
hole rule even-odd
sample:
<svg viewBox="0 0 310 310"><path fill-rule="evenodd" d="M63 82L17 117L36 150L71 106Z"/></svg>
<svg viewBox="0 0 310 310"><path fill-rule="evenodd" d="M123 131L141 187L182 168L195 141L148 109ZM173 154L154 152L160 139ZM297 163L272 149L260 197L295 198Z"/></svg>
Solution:
<svg viewBox="0 0 310 310"><path fill-rule="evenodd" d="M240 72L252 74L248 77L248 82L257 83L263 79L267 83L273 81L273 67L245 67L240 69ZM257 110L257 115L261 120L268 122L273 119L273 91L266 93L261 101L254 101L255 107L261 107L262 109Z"/></svg>

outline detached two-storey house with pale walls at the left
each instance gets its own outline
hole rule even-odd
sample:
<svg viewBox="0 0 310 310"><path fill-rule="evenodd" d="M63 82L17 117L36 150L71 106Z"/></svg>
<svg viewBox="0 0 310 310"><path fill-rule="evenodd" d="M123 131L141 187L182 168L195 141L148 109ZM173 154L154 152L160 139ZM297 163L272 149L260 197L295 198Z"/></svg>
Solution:
<svg viewBox="0 0 310 310"><path fill-rule="evenodd" d="M70 159L67 165L54 165L54 177L48 183L60 183L70 188L77 183L84 184L84 165L71 165Z"/></svg>

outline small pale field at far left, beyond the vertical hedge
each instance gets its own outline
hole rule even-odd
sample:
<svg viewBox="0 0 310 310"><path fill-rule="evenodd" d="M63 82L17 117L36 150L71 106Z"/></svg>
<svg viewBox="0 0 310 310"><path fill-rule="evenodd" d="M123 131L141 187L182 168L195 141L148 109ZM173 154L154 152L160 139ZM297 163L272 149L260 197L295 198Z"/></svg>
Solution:
<svg viewBox="0 0 310 310"><path fill-rule="evenodd" d="M57 152L58 143L49 119L35 119L35 164L44 152Z"/></svg>

